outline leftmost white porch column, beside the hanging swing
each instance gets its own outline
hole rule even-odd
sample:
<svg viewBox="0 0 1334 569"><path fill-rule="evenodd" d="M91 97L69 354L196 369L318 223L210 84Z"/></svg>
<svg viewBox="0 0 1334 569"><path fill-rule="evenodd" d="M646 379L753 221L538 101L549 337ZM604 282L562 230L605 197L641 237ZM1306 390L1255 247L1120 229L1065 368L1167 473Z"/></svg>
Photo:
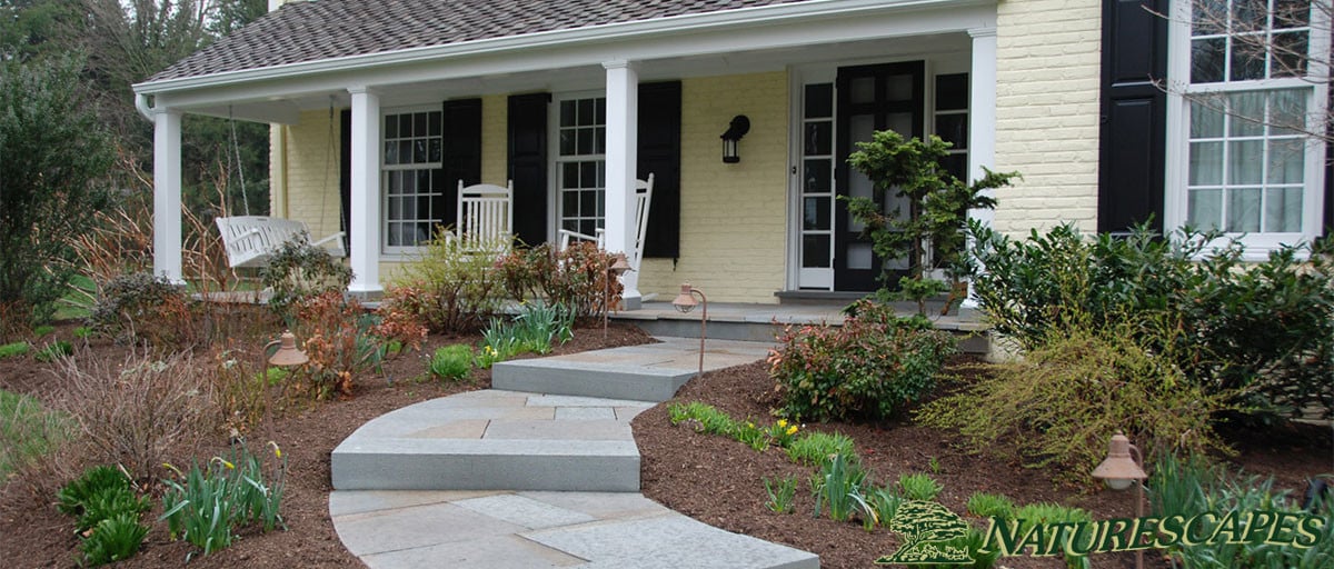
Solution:
<svg viewBox="0 0 1334 569"><path fill-rule="evenodd" d="M183 285L180 117L177 111L153 109L153 275Z"/></svg>

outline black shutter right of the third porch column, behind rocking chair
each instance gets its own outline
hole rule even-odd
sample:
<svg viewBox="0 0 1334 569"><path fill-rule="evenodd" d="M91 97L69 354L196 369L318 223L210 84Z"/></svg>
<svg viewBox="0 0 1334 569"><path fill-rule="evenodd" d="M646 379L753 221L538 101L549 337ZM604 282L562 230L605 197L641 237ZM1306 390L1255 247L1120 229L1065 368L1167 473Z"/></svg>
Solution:
<svg viewBox="0 0 1334 569"><path fill-rule="evenodd" d="M654 175L648 205L646 257L680 256L680 81L639 85L639 164L636 176Z"/></svg>

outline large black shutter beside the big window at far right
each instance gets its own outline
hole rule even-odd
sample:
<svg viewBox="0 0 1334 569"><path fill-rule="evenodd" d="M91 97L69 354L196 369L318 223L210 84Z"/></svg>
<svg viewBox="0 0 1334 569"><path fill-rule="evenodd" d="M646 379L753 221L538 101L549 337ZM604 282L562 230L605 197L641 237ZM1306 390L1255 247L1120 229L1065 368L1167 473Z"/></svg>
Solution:
<svg viewBox="0 0 1334 569"><path fill-rule="evenodd" d="M1098 231L1163 227L1167 0L1103 0Z"/></svg>

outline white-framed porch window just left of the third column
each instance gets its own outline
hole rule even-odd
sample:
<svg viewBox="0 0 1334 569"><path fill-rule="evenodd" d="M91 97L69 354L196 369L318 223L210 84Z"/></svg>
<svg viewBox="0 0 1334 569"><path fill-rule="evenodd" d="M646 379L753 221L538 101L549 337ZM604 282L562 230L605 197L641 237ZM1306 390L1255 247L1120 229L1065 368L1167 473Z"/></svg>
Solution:
<svg viewBox="0 0 1334 569"><path fill-rule="evenodd" d="M556 109L556 227L592 236L606 216L607 97L564 95Z"/></svg>

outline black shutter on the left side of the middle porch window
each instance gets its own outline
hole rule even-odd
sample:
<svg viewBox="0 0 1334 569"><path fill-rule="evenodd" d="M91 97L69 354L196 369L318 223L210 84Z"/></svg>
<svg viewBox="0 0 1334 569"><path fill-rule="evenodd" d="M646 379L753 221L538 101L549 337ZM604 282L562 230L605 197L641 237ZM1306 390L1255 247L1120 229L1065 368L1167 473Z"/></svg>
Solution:
<svg viewBox="0 0 1334 569"><path fill-rule="evenodd" d="M551 93L510 97L510 179L514 232L527 245L547 241L547 107Z"/></svg>

